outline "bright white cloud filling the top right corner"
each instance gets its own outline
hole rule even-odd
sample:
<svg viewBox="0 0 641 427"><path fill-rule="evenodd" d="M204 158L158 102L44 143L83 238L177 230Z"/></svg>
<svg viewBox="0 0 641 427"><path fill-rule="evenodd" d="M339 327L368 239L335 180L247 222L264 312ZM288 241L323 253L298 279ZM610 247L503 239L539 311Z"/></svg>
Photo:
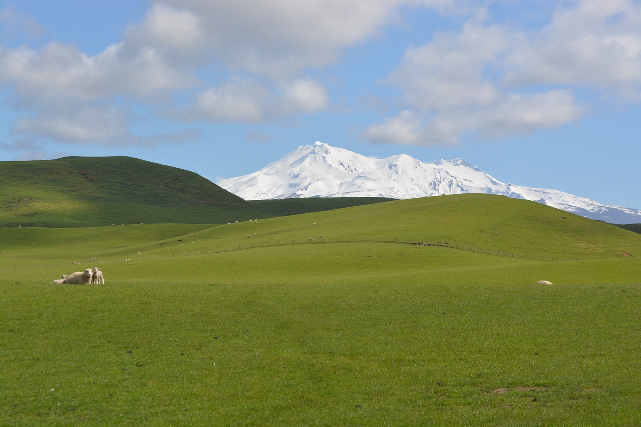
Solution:
<svg viewBox="0 0 641 427"><path fill-rule="evenodd" d="M572 6L558 8L548 26L509 52L506 83L591 85L638 96L641 5L587 0Z"/></svg>

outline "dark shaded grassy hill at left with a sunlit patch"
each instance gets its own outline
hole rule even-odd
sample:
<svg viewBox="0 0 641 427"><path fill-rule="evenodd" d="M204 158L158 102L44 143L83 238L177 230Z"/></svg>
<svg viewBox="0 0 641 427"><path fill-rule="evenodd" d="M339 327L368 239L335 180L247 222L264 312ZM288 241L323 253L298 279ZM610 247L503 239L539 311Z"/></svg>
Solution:
<svg viewBox="0 0 641 427"><path fill-rule="evenodd" d="M220 224L266 215L194 172L130 157L0 162L0 201L3 226Z"/></svg>

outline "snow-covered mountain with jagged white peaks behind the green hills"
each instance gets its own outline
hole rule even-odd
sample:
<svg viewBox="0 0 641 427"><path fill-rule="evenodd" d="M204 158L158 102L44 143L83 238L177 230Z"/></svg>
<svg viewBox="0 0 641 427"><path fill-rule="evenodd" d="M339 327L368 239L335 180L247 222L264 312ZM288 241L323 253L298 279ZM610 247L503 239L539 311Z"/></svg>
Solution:
<svg viewBox="0 0 641 427"><path fill-rule="evenodd" d="M300 146L258 172L217 184L246 200L502 194L613 224L641 222L641 210L603 205L559 190L506 184L460 158L431 163L408 155L377 159L322 142Z"/></svg>

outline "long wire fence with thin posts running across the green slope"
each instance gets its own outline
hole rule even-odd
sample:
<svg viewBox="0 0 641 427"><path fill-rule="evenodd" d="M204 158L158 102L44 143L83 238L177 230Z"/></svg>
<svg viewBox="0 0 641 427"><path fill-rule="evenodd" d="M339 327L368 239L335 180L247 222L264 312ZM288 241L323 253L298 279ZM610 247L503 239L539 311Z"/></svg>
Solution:
<svg viewBox="0 0 641 427"><path fill-rule="evenodd" d="M560 258L556 256L540 256L540 255L525 255L507 251L497 251L495 249L487 249L483 247L473 246L470 244L465 244L456 241L440 241L440 240L417 240L417 239L405 239L399 237L334 237L334 238L325 238L320 237L317 239L278 239L278 240L264 240L256 242L255 236L248 235L247 242L244 244L229 245L229 246L213 246L208 248L200 248L193 250L181 250L176 252L162 252L162 253L146 253L146 254L133 254L128 255L127 258L115 258L115 259L102 259L101 263L110 263L110 262L122 262L122 261L131 261L139 259L158 259L158 258L177 258L181 256L196 256L196 255L210 255L214 253L223 253L229 251L243 251L246 249L256 249L260 247L270 247L270 246L291 246L291 245L301 245L301 244L340 244L340 243L351 243L351 242L379 242L385 244L410 244L415 246L437 246L437 247L449 247L451 249L458 249L461 251L474 252L484 255L492 256L504 256L508 258L519 258L522 260L535 260L535 261L545 261L545 262L557 262L557 261L569 261L574 258ZM180 242L178 240L177 242ZM187 243L187 245L190 243ZM185 246L186 244L181 244ZM82 262L72 262L71 264L79 265L78 268L81 268L81 265L92 264L92 267L96 266L97 260L86 260ZM4 271L15 271L15 270L28 270L28 269L41 269L44 267L61 267L67 266L69 263L65 264L42 264L42 265L23 265L23 266L10 266L3 267Z"/></svg>

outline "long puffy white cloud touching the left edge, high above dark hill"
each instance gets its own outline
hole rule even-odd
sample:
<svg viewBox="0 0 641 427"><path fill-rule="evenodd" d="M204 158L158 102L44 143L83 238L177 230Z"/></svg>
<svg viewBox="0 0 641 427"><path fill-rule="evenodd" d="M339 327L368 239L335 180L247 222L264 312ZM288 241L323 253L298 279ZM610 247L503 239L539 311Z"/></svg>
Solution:
<svg viewBox="0 0 641 427"><path fill-rule="evenodd" d="M32 101L60 97L95 101L117 95L150 97L190 87L196 80L150 47L125 56L122 43L113 44L88 56L75 46L51 42L40 51L28 47L0 51L0 81Z"/></svg>

